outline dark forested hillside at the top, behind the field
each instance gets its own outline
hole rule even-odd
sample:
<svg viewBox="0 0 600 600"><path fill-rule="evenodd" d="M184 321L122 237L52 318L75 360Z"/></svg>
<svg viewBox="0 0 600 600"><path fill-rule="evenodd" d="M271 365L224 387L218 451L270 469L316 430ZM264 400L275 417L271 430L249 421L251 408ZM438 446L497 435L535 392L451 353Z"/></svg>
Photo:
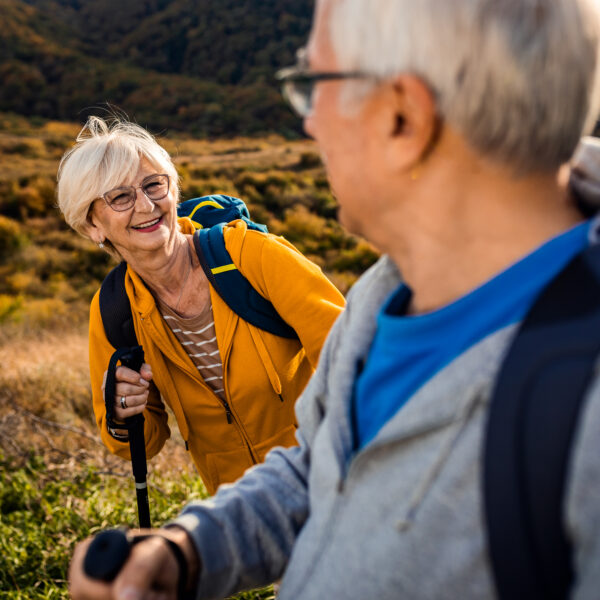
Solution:
<svg viewBox="0 0 600 600"><path fill-rule="evenodd" d="M312 0L0 0L0 111L84 121L106 102L153 130L297 136L273 75Z"/></svg>

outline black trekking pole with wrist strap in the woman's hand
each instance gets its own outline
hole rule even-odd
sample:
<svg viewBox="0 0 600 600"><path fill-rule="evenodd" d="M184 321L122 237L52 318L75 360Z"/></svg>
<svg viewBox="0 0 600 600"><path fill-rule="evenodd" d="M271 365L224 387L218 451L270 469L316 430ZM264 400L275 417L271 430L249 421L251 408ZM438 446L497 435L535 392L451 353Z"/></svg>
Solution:
<svg viewBox="0 0 600 600"><path fill-rule="evenodd" d="M106 422L112 429L127 429L129 433L129 449L131 451L131 467L135 480L135 494L137 499L138 519L140 527L151 527L150 506L148 504L148 483L146 476L146 444L144 441L144 415L137 414L125 419L125 425L114 421L114 401L116 395L116 369L117 362L125 367L139 371L144 363L144 350L141 346L121 348L110 358L106 385L104 388L104 403L106 405Z"/></svg>

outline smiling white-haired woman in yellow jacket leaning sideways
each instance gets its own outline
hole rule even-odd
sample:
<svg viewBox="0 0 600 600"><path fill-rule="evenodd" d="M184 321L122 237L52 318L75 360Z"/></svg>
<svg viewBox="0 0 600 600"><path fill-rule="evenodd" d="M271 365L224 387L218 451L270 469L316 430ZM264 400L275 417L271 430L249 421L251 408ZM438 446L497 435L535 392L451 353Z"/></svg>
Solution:
<svg viewBox="0 0 600 600"><path fill-rule="evenodd" d="M210 493L295 443L294 403L313 372L344 300L321 270L283 238L224 230L226 248L298 340L239 318L199 264L195 228L177 218L178 177L168 153L137 125L91 117L64 156L58 203L71 227L127 262L125 288L146 363L116 371L119 420L143 412L146 451L169 437L166 402ZM96 294L90 310L93 405L107 447L129 457L127 431L109 428L103 379L114 348Z"/></svg>

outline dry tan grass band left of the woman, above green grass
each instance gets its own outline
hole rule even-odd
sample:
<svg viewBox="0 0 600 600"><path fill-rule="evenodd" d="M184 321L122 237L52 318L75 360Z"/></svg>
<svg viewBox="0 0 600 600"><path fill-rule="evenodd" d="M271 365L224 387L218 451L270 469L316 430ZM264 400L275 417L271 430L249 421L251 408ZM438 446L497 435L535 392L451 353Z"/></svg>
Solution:
<svg viewBox="0 0 600 600"><path fill-rule="evenodd" d="M88 466L128 477L100 441L92 413L87 332L12 328L0 336L0 450L23 464L33 453L65 477ZM172 417L171 417L172 418ZM177 426L149 471L194 472ZM151 476L150 476L151 481Z"/></svg>

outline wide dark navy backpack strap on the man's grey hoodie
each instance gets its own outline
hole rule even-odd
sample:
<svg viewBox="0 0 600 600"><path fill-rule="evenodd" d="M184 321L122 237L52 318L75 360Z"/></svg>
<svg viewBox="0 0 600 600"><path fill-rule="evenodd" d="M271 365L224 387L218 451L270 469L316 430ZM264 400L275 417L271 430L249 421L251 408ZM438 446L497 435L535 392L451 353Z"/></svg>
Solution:
<svg viewBox="0 0 600 600"><path fill-rule="evenodd" d="M573 561L564 496L573 433L600 353L600 246L542 292L492 395L483 489L501 599L568 597Z"/></svg>

